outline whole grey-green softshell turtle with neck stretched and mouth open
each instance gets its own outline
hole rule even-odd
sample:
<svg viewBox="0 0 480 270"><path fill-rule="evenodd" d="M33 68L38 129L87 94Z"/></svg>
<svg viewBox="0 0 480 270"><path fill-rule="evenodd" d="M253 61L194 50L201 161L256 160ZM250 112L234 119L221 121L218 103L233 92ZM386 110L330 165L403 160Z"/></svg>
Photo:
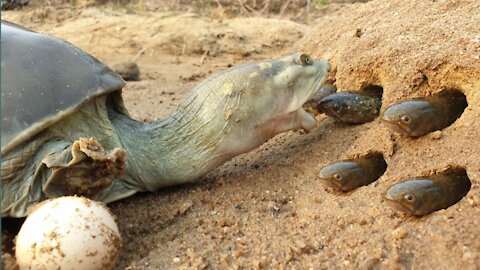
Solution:
<svg viewBox="0 0 480 270"><path fill-rule="evenodd" d="M301 52L234 66L142 122L105 64L62 39L1 24L2 217L59 196L110 203L191 182L279 133L311 130L316 120L302 105L330 71L328 60Z"/></svg>

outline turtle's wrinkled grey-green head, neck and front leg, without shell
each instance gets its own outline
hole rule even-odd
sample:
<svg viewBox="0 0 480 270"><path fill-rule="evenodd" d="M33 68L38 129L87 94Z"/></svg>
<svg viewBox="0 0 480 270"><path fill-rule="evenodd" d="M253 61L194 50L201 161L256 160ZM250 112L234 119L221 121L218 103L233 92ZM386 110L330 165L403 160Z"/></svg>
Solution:
<svg viewBox="0 0 480 270"><path fill-rule="evenodd" d="M2 216L25 216L36 202L66 192L108 203L194 181L279 133L310 130L316 120L302 105L329 70L327 61L302 53L233 67L149 123L125 113L120 91L98 96L2 155ZM85 141L95 149L73 147Z"/></svg>

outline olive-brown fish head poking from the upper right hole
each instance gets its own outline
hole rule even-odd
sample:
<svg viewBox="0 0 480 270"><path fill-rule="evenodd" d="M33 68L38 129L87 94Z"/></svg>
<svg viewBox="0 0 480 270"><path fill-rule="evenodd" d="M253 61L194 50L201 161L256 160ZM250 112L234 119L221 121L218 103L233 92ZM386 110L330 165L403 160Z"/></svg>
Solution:
<svg viewBox="0 0 480 270"><path fill-rule="evenodd" d="M463 93L446 90L394 104L383 113L383 121L397 132L419 137L448 127L462 115L467 105Z"/></svg>

